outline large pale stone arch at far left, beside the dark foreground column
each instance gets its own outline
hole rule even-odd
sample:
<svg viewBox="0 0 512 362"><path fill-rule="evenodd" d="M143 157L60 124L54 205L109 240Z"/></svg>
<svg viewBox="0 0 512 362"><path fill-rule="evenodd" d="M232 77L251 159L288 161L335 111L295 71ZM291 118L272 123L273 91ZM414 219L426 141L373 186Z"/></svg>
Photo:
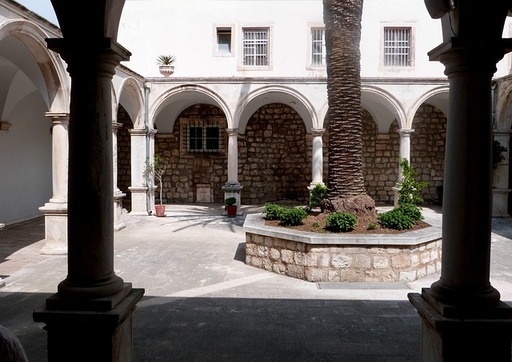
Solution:
<svg viewBox="0 0 512 362"><path fill-rule="evenodd" d="M69 112L70 82L64 63L58 56L50 52L45 43L48 37L41 28L26 20L8 20L0 25L0 42L9 41L12 36L25 45L26 50L33 56L25 61L19 53L13 54L15 59L9 59L23 71L37 87L45 100L49 112ZM37 74L34 64L38 67Z"/></svg>

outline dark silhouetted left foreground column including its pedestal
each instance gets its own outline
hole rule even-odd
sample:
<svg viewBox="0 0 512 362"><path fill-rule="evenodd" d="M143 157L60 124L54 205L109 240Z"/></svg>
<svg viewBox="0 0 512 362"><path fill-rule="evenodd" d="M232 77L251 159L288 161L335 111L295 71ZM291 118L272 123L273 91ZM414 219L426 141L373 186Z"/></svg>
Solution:
<svg viewBox="0 0 512 362"><path fill-rule="evenodd" d="M130 53L112 39L116 32L109 26L116 24L123 3L75 7L52 0L64 37L47 43L68 64L72 82L67 277L33 314L34 321L46 324L49 361L133 357L132 314L144 290L115 274L113 250L111 81ZM102 33L98 26L108 29Z"/></svg>

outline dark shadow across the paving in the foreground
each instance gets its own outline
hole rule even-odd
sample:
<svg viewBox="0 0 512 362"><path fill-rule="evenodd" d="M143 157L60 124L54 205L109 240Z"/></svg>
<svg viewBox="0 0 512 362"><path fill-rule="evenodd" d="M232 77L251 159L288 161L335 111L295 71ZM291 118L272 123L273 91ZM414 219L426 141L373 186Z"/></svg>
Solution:
<svg viewBox="0 0 512 362"><path fill-rule="evenodd" d="M32 312L48 296L2 296L0 324L31 362L47 361ZM406 301L147 296L133 322L134 362L419 361L420 319Z"/></svg>

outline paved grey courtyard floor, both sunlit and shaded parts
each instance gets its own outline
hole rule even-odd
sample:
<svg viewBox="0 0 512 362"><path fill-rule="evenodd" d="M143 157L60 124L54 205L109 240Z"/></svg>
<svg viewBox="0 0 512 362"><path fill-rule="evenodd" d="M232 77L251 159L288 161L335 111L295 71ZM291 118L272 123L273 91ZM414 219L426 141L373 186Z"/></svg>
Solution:
<svg viewBox="0 0 512 362"><path fill-rule="evenodd" d="M134 313L135 361L419 361L421 323L408 284L310 283L244 264L244 216L221 205L169 205L167 217L124 216L115 271L145 295ZM247 213L261 212L244 207ZM441 224L438 209L424 209ZM66 276L41 255L44 220L0 229L0 325L31 362L46 361L32 312ZM512 219L493 219L491 283L512 304Z"/></svg>

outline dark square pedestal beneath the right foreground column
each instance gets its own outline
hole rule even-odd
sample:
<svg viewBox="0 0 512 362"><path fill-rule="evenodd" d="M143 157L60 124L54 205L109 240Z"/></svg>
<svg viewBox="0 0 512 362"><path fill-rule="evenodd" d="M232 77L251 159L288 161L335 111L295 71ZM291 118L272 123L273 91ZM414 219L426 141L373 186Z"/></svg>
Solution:
<svg viewBox="0 0 512 362"><path fill-rule="evenodd" d="M409 300L422 319L422 361L511 361L512 308L463 308L437 302L424 289Z"/></svg>

